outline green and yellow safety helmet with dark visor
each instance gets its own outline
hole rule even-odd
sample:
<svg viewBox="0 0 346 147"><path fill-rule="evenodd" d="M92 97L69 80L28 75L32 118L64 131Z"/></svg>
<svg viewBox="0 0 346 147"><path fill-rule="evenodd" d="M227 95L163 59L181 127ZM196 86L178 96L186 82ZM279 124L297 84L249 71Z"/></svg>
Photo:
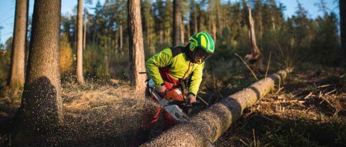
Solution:
<svg viewBox="0 0 346 147"><path fill-rule="evenodd" d="M214 41L204 31L200 31L189 39L191 56L194 62L201 64L214 54Z"/></svg>

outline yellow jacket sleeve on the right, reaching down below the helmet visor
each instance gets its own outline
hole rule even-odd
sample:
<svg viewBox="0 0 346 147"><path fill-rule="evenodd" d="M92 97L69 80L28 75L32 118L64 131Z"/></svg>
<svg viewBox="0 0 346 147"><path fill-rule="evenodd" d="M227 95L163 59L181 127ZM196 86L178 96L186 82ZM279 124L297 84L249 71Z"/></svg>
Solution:
<svg viewBox="0 0 346 147"><path fill-rule="evenodd" d="M203 76L203 68L206 66L206 63L203 62L200 66L197 66L193 70L193 75L191 77L191 83L189 87L189 94L193 94L194 96L197 95L199 85L202 82L202 76Z"/></svg>

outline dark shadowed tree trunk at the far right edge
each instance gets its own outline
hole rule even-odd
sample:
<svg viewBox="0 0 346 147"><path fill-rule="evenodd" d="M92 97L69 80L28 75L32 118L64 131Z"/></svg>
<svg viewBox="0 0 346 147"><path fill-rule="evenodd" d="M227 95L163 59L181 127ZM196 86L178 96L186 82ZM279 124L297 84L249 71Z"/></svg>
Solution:
<svg viewBox="0 0 346 147"><path fill-rule="evenodd" d="M346 71L346 1L339 0L340 7L340 42L342 52L342 66Z"/></svg>

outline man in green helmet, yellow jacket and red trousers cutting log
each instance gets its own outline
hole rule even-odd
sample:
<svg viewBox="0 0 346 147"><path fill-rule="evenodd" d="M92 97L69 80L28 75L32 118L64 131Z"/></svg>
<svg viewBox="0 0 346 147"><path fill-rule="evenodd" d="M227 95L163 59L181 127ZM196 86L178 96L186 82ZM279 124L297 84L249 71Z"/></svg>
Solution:
<svg viewBox="0 0 346 147"><path fill-rule="evenodd" d="M187 99L190 103L196 102L196 94L202 81L205 61L214 54L214 41L204 31L191 36L185 47L168 47L152 56L147 62L148 73L155 84L155 91L162 96L166 91L181 88L186 79ZM146 97L157 101L146 89ZM155 122L158 120L161 107L157 107L155 113L150 112L149 106L143 107L143 117L140 126L135 133L133 146L138 146L148 141L148 136ZM176 125L176 121L166 111L162 111L163 129L165 131Z"/></svg>

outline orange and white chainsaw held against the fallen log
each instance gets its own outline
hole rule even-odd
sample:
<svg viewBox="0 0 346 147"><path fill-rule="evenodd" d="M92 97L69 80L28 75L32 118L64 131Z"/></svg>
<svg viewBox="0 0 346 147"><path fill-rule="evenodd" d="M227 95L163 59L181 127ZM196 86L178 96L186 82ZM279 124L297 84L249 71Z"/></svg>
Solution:
<svg viewBox="0 0 346 147"><path fill-rule="evenodd" d="M199 101L190 104L189 100L184 97L184 93L182 93L179 88L166 91L162 97L154 90L155 83L152 79L149 79L148 86L150 93L153 94L156 100L160 103L160 107L168 112L168 114L177 122L186 122L188 115L186 115L185 112L189 114L192 107L200 104Z"/></svg>

